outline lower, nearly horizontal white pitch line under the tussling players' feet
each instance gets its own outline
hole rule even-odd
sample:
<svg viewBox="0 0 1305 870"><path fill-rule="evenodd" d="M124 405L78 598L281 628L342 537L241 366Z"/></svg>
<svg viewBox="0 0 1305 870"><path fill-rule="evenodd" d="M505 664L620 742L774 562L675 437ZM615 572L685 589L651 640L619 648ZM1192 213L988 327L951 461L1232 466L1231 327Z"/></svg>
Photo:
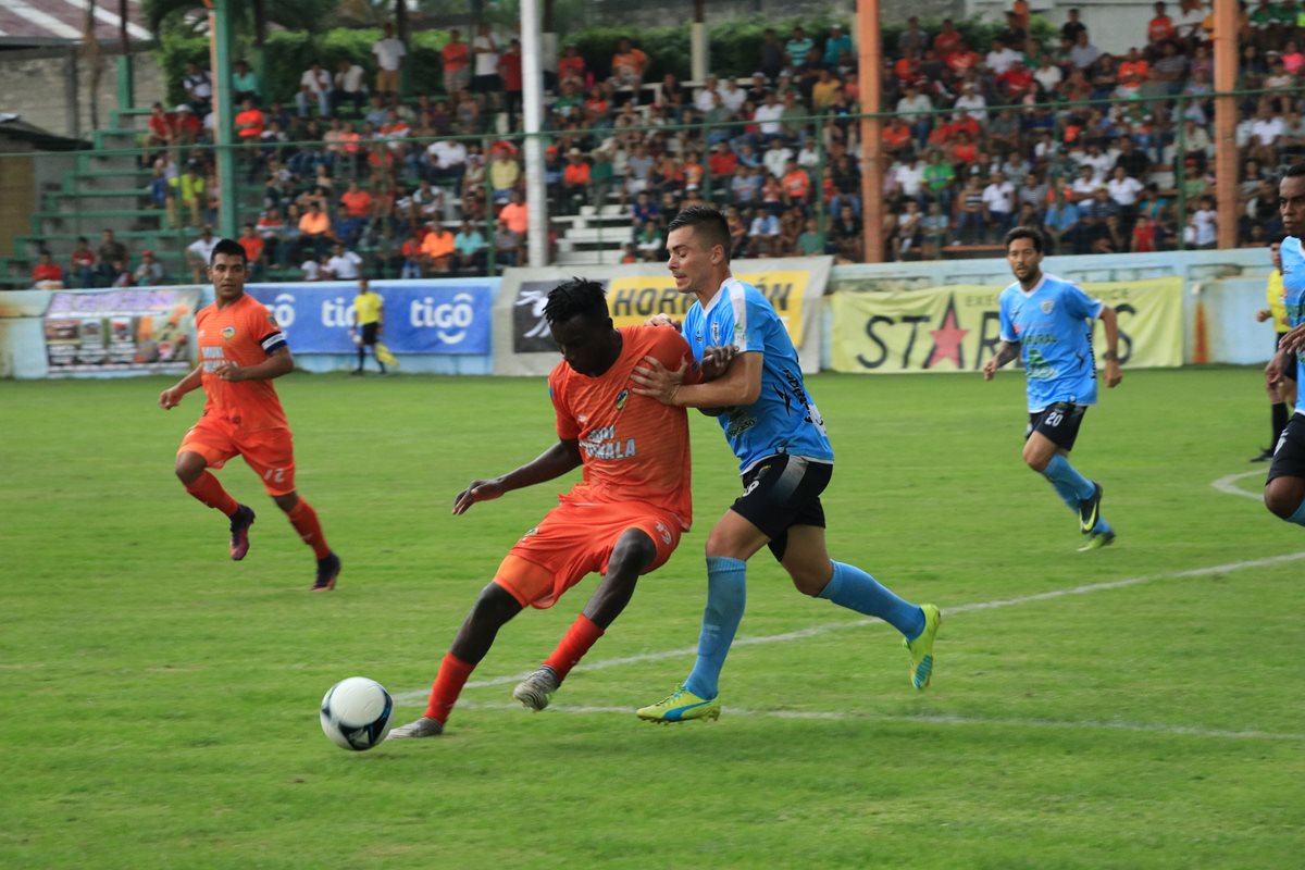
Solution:
<svg viewBox="0 0 1305 870"><path fill-rule="evenodd" d="M519 710L521 704L508 702L458 702L459 707L468 710ZM553 704L545 713L579 713L579 715L620 715L632 717L634 711L629 707L569 707ZM1292 734L1282 732L1263 730L1223 730L1216 728L1190 728L1188 725L1167 725L1148 723L1129 723L1114 719L1088 719L1088 720L1058 720L1058 719L988 719L983 716L954 716L950 713L916 713L916 715L887 715L874 712L822 712L814 710L743 710L727 707L729 716L748 716L763 719L799 719L817 721L877 721L902 723L911 725L988 725L993 728L1048 728L1048 729L1087 729L1087 730L1117 730L1131 734L1167 734L1184 737L1211 737L1218 740L1284 740L1305 741L1305 734ZM651 724L651 723L650 723Z"/></svg>

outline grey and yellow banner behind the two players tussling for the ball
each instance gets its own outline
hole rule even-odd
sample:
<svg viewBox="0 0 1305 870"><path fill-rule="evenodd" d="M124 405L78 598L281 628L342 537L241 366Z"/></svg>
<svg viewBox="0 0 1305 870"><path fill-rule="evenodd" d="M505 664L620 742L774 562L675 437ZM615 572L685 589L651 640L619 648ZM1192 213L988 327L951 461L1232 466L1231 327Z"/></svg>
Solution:
<svg viewBox="0 0 1305 870"><path fill-rule="evenodd" d="M830 257L736 260L731 271L770 300L797 348L803 372L820 370L821 297L829 283ZM675 288L666 263L626 266L551 266L508 269L495 304L495 373L548 374L561 359L553 346L544 303L548 291L579 275L607 290L607 309L616 326L632 326L654 314L684 320L693 293Z"/></svg>

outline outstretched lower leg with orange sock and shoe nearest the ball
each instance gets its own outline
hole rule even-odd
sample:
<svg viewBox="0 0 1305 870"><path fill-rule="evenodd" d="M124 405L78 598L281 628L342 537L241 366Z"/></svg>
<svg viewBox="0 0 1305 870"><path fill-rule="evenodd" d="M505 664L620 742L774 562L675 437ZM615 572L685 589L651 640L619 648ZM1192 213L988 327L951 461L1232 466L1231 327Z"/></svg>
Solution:
<svg viewBox="0 0 1305 870"><path fill-rule="evenodd" d="M435 677L431 698L425 704L425 715L393 729L388 740L442 734L444 723L453 712L453 704L458 702L467 677L489 652L495 638L499 637L499 629L521 613L521 603L508 590L492 582L485 586L440 664L440 673Z"/></svg>

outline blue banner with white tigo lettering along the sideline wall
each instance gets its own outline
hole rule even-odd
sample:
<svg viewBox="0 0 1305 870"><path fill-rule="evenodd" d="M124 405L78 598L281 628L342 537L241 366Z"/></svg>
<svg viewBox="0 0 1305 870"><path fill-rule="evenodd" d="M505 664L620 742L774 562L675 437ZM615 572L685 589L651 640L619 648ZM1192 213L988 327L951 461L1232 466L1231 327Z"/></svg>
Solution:
<svg viewBox="0 0 1305 870"><path fill-rule="evenodd" d="M385 300L390 352L485 355L497 279L373 280ZM294 353L352 353L358 282L254 284L251 296L277 317Z"/></svg>

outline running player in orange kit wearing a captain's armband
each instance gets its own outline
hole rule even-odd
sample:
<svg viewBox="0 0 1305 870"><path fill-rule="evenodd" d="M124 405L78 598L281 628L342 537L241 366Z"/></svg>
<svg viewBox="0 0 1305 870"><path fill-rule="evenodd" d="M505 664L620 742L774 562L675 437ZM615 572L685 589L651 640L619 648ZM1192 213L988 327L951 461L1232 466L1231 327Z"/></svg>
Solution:
<svg viewBox="0 0 1305 870"><path fill-rule="evenodd" d="M209 261L217 301L196 317L200 365L159 395L164 411L201 386L207 395L204 415L177 449L176 476L188 493L231 518L231 558L240 561L249 552L254 514L236 502L207 468L243 457L299 536L313 548L313 591L329 591L335 588L339 557L326 545L317 511L295 492L290 425L271 386L273 378L295 364L277 321L258 300L245 296L247 275L244 248L231 239L221 240Z"/></svg>

